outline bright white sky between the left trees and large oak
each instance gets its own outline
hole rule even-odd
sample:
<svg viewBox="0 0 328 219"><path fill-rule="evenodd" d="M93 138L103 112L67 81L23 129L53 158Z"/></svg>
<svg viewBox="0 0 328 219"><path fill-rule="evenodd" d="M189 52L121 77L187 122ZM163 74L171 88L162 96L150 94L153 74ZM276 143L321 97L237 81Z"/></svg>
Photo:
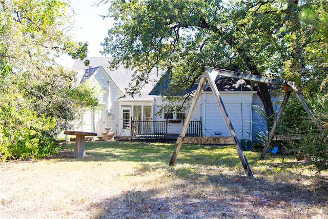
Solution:
<svg viewBox="0 0 328 219"><path fill-rule="evenodd" d="M94 6L98 0L73 0L71 7L75 11L75 24L72 39L74 42L88 42L88 57L104 57L100 54L100 45L112 27L111 18L103 19L100 14L107 14L109 5ZM59 62L66 67L72 67L73 60L68 56L60 58Z"/></svg>

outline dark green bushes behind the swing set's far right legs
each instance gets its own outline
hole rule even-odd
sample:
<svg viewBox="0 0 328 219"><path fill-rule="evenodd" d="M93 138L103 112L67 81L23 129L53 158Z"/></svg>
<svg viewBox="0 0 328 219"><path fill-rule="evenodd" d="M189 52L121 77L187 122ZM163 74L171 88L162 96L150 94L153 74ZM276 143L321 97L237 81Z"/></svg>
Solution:
<svg viewBox="0 0 328 219"><path fill-rule="evenodd" d="M284 144L286 151L296 155L312 156L313 164L319 170L328 169L328 106L323 101L323 95L306 98L306 102L312 109L315 117L310 118L304 108L294 96L288 102L281 118L278 132L283 134L301 134L299 142ZM320 124L324 129L321 132L316 124Z"/></svg>

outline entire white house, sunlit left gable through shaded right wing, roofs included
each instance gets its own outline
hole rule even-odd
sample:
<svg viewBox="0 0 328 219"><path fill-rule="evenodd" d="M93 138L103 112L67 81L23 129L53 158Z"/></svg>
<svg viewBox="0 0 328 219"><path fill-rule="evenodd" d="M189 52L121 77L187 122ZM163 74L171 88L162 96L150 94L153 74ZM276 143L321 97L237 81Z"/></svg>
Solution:
<svg viewBox="0 0 328 219"><path fill-rule="evenodd" d="M83 83L88 79L89 83L98 88L98 106L101 110L81 111L80 120L72 122L73 129L96 132L98 136L101 136L101 133L105 132L105 127L111 127L115 136L129 137L131 136L131 118L139 121L180 119L180 123L168 123L167 127L168 134L178 136L187 112L178 114L163 112L158 115L159 107L164 104L163 98L160 94L151 92L164 72L154 69L149 75L149 83L142 88L140 95L125 96L125 88L132 82L134 72L122 66L118 66L115 70L109 69L110 59L108 57L88 58L89 66L85 66L81 61L75 61L73 70L77 74L77 83ZM253 140L252 133L258 129L258 125L253 123L253 118L256 117L253 105L261 105L256 91L247 86L242 79L227 79L218 76L216 84L237 137ZM203 89L192 120L202 121L203 136L229 136L208 86ZM261 123L261 119L258 122Z"/></svg>

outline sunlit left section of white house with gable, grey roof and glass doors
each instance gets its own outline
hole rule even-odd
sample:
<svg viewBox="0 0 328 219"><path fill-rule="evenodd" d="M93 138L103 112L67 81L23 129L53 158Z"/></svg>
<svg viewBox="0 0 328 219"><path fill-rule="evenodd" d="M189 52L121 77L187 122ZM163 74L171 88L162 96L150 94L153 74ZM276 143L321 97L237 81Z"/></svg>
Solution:
<svg viewBox="0 0 328 219"><path fill-rule="evenodd" d="M98 106L101 110L81 111L81 119L73 121L73 129L96 132L98 136L105 132L105 127L111 127L116 136L130 136L130 119L151 120L154 114L154 97L148 95L161 76L154 69L149 75L149 84L140 91L140 95L126 95L129 83L132 82L131 69L118 66L115 70L108 68L110 58L88 58L89 66L77 60L73 65L76 71L77 83L87 79L98 88ZM99 108L97 107L97 108Z"/></svg>

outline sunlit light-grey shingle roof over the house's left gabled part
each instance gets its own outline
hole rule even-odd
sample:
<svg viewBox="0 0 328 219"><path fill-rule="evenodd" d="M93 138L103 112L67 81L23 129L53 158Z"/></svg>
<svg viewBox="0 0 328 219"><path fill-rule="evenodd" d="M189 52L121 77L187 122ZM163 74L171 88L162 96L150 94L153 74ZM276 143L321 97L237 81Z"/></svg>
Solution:
<svg viewBox="0 0 328 219"><path fill-rule="evenodd" d="M126 69L124 66L119 65L117 69L110 69L109 62L112 60L111 57L88 57L86 58L90 61L89 66L84 65L84 61L76 60L73 64L73 70L76 71L77 81L81 83L84 78L87 78L89 74L92 75L94 71L97 70L100 66L104 68L110 78L113 80L117 88L123 93L126 94L126 88L129 87L129 84L133 84L134 70ZM136 94L134 97L126 95L124 98L120 98L121 101L138 101L138 100L153 100L153 97L149 96L150 91L153 89L157 81L159 80L162 71L153 69L149 74L149 83L145 84L140 91L140 95ZM90 75L90 76L91 76ZM89 76L89 77L90 77Z"/></svg>

